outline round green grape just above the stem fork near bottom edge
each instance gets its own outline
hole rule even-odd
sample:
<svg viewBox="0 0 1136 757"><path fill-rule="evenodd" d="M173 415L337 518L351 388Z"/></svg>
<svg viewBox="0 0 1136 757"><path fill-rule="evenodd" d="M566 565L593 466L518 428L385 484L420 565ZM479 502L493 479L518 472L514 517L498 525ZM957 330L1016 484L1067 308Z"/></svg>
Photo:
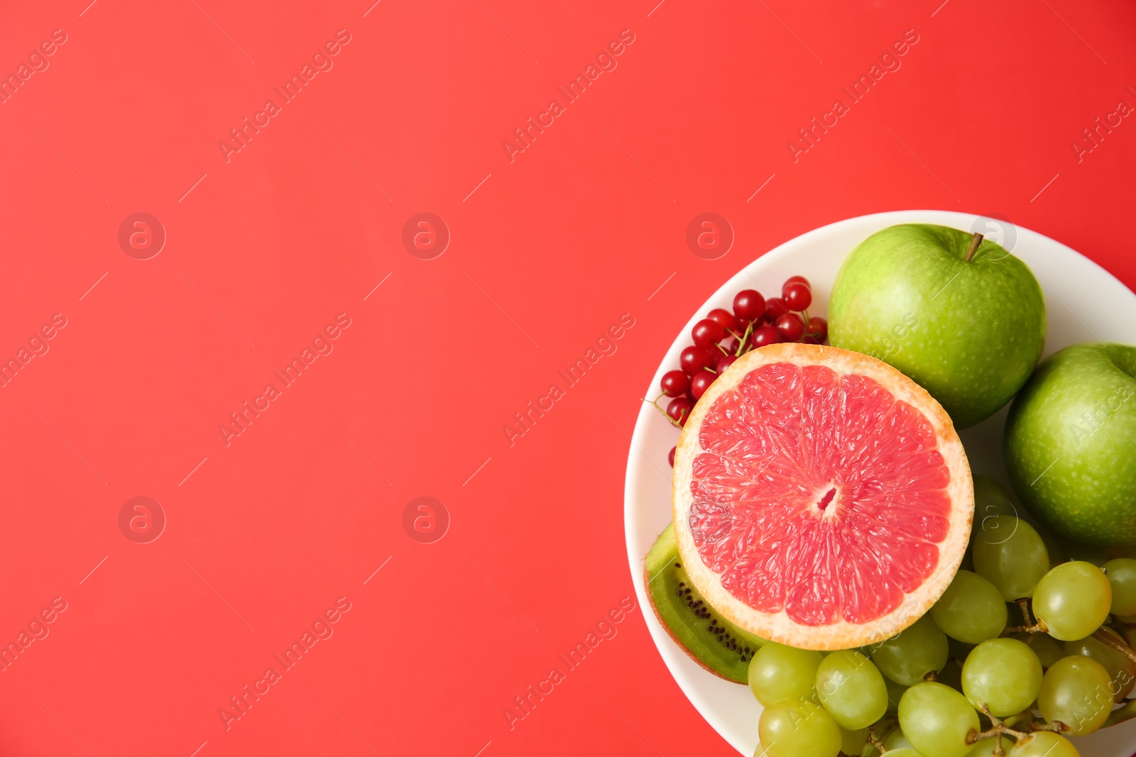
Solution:
<svg viewBox="0 0 1136 757"><path fill-rule="evenodd" d="M1029 708L1042 690L1042 662L1017 639L991 639L975 647L962 666L962 692L995 717Z"/></svg>

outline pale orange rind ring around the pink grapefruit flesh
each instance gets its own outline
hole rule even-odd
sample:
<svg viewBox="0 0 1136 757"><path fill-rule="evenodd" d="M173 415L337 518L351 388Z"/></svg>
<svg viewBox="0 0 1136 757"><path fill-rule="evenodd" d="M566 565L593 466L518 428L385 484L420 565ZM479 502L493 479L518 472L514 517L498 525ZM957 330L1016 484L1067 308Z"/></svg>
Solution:
<svg viewBox="0 0 1136 757"><path fill-rule="evenodd" d="M827 625L804 625L793 621L783 609L763 613L749 606L727 590L720 577L702 560L690 525L693 502L691 481L694 460L703 452L699 429L715 401L735 389L747 373L769 363L792 363L797 367L822 365L837 376L859 375L877 381L896 401L918 410L932 424L938 452L950 472L946 491L951 501L951 527L946 537L936 542L938 563L935 572L907 594L900 606L874 621L851 623L838 619ZM869 355L837 347L811 344L774 344L753 350L737 359L707 389L691 411L675 451L671 489L675 540L678 553L695 589L729 622L762 639L799 649L851 649L877 644L897 634L921 617L951 584L966 553L974 521L974 486L970 465L959 435L946 411L926 389L907 376Z"/></svg>

